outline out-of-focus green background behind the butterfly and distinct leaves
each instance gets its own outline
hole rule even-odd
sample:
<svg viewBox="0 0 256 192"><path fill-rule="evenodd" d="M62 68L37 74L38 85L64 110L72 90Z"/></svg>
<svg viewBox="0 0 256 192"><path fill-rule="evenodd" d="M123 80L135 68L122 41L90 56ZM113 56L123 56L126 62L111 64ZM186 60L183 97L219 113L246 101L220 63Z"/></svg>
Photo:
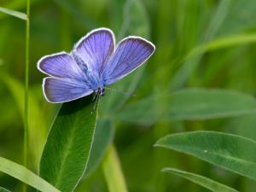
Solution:
<svg viewBox="0 0 256 192"><path fill-rule="evenodd" d="M0 6L26 12L25 0L1 0ZM166 134L196 130L225 131L255 139L256 113L207 120L150 121L148 117L148 122L115 120L111 113L145 97L188 87L237 90L254 96L255 24L254 0L32 0L29 168L38 172L47 131L60 107L44 100L44 74L38 72L37 61L44 55L70 51L87 32L105 26L115 32L117 41L139 35L156 45L144 67L113 84L137 96L127 98L107 92L101 101L102 119L113 119L113 143L129 191L206 191L183 178L160 172L164 166L211 177L239 191L255 191L256 183L246 177L153 145ZM20 164L24 66L25 22L0 13L0 155ZM141 113L145 111L147 107L141 109ZM20 191L21 184L0 173L0 186ZM108 191L101 166L84 178L76 191Z"/></svg>

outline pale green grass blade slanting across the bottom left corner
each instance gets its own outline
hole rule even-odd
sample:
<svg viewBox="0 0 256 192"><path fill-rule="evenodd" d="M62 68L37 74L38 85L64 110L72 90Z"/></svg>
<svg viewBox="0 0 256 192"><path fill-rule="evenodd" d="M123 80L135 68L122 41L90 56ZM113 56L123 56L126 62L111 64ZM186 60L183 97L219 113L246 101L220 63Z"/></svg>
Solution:
<svg viewBox="0 0 256 192"><path fill-rule="evenodd" d="M43 178L38 177L35 173L26 169L26 167L20 166L19 164L11 160L4 159L3 157L0 157L0 172L4 172L9 176L15 177L21 182L43 192L60 192L58 189L55 189L55 187L47 183Z"/></svg>

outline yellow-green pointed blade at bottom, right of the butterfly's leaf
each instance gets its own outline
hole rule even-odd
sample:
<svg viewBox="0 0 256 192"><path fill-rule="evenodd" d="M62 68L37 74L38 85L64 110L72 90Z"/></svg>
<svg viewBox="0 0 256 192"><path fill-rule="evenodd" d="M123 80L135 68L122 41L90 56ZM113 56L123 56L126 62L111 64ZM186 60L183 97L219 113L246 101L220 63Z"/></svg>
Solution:
<svg viewBox="0 0 256 192"><path fill-rule="evenodd" d="M109 192L128 192L119 163L119 157L113 144L110 145L108 153L102 162L102 170L108 184Z"/></svg>

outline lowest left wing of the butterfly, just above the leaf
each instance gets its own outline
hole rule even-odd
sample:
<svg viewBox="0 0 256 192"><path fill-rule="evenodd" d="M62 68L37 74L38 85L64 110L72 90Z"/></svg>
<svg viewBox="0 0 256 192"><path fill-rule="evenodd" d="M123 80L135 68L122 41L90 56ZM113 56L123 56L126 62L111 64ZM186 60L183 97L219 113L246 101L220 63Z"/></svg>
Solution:
<svg viewBox="0 0 256 192"><path fill-rule="evenodd" d="M44 96L48 102L70 102L83 96L90 95L93 90L83 82L74 79L44 78Z"/></svg>

